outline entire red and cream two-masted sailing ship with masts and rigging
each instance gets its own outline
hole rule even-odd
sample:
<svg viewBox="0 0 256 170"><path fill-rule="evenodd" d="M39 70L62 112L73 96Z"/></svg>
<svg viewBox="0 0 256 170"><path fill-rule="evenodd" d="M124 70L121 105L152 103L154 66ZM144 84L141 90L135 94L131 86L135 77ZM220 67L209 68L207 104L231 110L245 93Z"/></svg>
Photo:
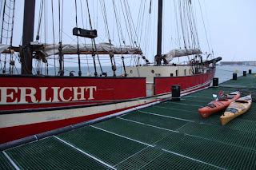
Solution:
<svg viewBox="0 0 256 170"><path fill-rule="evenodd" d="M105 2L99 2L104 17L106 14ZM116 10L117 5L114 0L112 2L118 34L121 34L121 22ZM63 2L58 1L58 3L58 6L54 6L52 1L52 14L54 14L54 10L59 10L60 20L58 24L59 32L61 32ZM119 3L126 7L122 10L126 10L126 14L130 15L130 10L127 8L128 2ZM34 41L35 0L25 0L22 45L14 47L12 41L9 40L12 40L13 37L15 1L5 0L2 4L3 22L0 45L0 52L2 53L0 136L2 137L0 138L0 144L166 100L172 97L172 85L180 85L181 93L189 93L205 88L210 85L214 77L215 63L221 60L220 57L208 60L211 54L207 54L207 60L203 60L199 45L186 47L185 40L184 49L172 49L169 53L162 54L162 0L158 0L158 44L153 63L150 63L143 56L138 42L134 42L136 45L127 46L121 45L122 41L120 41L120 46L115 46L112 45L109 38L108 43L96 44L95 39L98 36L98 30L94 30L91 23L88 0L86 1L88 11L86 17L90 23L88 30L84 27L78 27L78 3L75 1L76 26L73 30L70 30L77 38L77 44L75 45L62 44L61 34L59 34L58 44L55 42L54 44L40 42L39 34L37 34ZM40 2L38 33L40 32L45 4L46 1L42 0ZM181 9L182 4L191 8L190 1L181 1ZM6 11L8 11L8 15ZM191 11L187 10L186 12L189 14ZM181 15L185 16L186 14ZM8 29L10 30L8 35L10 38L7 38L8 41L4 42L4 32L5 30L9 31L4 27L7 21L6 18L8 18ZM128 18L126 19L128 21ZM190 18L186 18L186 20L189 21ZM107 26L107 18L104 18L104 21L105 26ZM132 21L130 20L130 22ZM190 21L189 24L190 30L193 30L193 32L188 31L187 33L190 32L191 38L195 41L196 34L194 34L194 31L196 29L192 29L195 28L194 21ZM110 34L109 30L106 31L106 34ZM87 38L91 43L81 45L81 39L79 38ZM80 57L83 54L91 56L94 65L93 75L88 72L86 76L82 76ZM14 55L18 56L21 61L22 72L20 75L14 73L16 68ZM42 75L40 69L37 69L34 75L32 74L32 61L46 63L47 65L49 58L55 55L58 55L58 75ZM78 76L74 76L72 72L70 72L70 76L64 76L64 55L78 56ZM102 71L100 55L110 56L112 76ZM123 73L121 75L116 75L116 55L122 56ZM125 65L126 55L138 56L133 57L136 61L134 66ZM171 63L174 57L182 56L186 56L188 62L183 65ZM9 57L9 59L6 60L6 57ZM6 72L7 61L10 63L9 72ZM145 64L142 64L142 61ZM98 73L96 63L99 64L101 73Z"/></svg>

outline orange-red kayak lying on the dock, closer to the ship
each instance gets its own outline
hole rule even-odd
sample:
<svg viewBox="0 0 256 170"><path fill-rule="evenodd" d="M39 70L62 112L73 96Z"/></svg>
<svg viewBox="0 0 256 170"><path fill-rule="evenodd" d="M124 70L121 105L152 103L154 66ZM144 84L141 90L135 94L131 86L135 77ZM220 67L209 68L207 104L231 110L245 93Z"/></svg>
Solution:
<svg viewBox="0 0 256 170"><path fill-rule="evenodd" d="M240 97L240 92L232 92L230 94L222 95L217 101L211 101L205 107L198 109L202 117L209 117L214 113L218 113L223 109L226 109L232 101L237 100Z"/></svg>

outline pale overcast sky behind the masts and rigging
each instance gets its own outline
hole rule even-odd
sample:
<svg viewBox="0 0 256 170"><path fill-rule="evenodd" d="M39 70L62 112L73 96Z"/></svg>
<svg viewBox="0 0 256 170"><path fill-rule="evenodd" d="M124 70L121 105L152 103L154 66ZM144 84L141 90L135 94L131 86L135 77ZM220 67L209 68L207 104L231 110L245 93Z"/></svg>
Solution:
<svg viewBox="0 0 256 170"><path fill-rule="evenodd" d="M3 2L3 0L1 0ZM174 0L178 1L178 0ZM184 0L182 0L184 1ZM38 11L39 0L36 0L35 26L34 37L38 29ZM89 30L88 14L86 12L86 1L82 0L82 10L85 22L85 27ZM115 2L120 4L117 0ZM156 35L157 35L157 0L152 0L152 14L149 15L150 0L127 0L130 5L131 14L134 25L137 25L139 18L139 6L141 2L145 2L146 13L144 14L142 32L147 34L142 37L141 42L138 42L142 51L150 61L154 60L156 54ZM177 30L174 29L175 21L173 20L174 11L173 0L163 0L164 14L163 14L163 45L162 53L167 53L170 49L178 48L172 38L175 38ZM199 42L203 52L209 51L206 41L206 34L210 42L210 49L214 49L214 57L222 57L222 61L255 61L256 55L256 1L255 0L191 0L198 24ZM198 6L200 2L201 10ZM116 29L116 22L114 18L114 10L112 0L106 0L106 14L110 30L110 37L115 45L118 45L118 34ZM1 3L2 4L2 3ZM24 1L16 1L15 20L14 20L14 45L19 45L22 38L22 19L23 19ZM46 26L48 27L46 42L50 43L53 40L52 35L52 21L51 21L51 5L50 0L46 0ZM76 38L72 35L72 29L75 25L75 7L74 0L64 0L64 16L63 16L63 43L76 44ZM106 36L106 29L102 19L102 9L100 7L100 0L90 1L90 13L93 20L93 26L98 30L98 38L96 42L108 42ZM122 9L118 9L118 13L122 14ZM202 23L202 16L204 18L206 31ZM150 19L148 18L150 16ZM55 42L58 42L58 1L54 0L54 28L56 31ZM121 24L123 26L124 37L128 38L126 33L126 26L124 19L120 15ZM2 16L1 16L2 20ZM96 20L96 21L95 21ZM150 22L150 23L148 23ZM80 1L78 0L78 27L82 27L82 17L80 10ZM150 27L150 28L146 28ZM141 31L141 30L137 30ZM45 30L42 28L42 32ZM41 33L42 35L43 33ZM43 37L43 35L42 35ZM177 38L177 37L176 37ZM83 41L83 40L82 40ZM88 40L86 40L88 41ZM44 39L42 39L44 42ZM126 42L129 42L127 40ZM89 42L87 42L89 43ZM208 52L209 53L209 52ZM71 65L71 64L70 64Z"/></svg>

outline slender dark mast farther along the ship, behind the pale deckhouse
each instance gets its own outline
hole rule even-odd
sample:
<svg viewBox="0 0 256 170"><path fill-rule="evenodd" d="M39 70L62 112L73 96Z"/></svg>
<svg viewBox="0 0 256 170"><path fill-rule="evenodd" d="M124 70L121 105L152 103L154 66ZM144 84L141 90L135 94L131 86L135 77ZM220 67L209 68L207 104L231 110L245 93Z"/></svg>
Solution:
<svg viewBox="0 0 256 170"><path fill-rule="evenodd" d="M155 57L157 65L162 61L162 0L158 0L158 51Z"/></svg>

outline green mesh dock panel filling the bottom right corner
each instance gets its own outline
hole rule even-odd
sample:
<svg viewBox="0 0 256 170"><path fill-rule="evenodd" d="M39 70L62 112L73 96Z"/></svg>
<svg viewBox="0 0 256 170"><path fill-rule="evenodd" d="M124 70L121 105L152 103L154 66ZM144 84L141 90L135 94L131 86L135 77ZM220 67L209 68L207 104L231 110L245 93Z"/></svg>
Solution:
<svg viewBox="0 0 256 170"><path fill-rule="evenodd" d="M177 139L177 140L175 140ZM255 169L256 151L198 136L172 134L157 145L171 152L228 169Z"/></svg>

